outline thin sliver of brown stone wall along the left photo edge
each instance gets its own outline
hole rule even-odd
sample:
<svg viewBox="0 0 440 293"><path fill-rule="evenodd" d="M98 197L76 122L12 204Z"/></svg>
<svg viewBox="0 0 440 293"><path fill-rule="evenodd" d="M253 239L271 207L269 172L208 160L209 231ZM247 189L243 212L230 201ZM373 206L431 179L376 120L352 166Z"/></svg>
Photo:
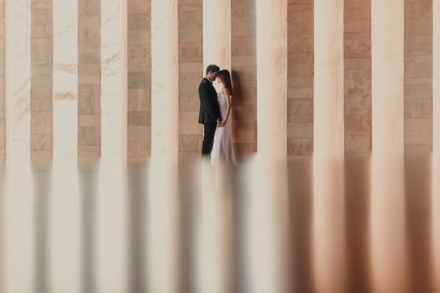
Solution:
<svg viewBox="0 0 440 293"><path fill-rule="evenodd" d="M0 0L0 170L6 167L6 112L5 112L5 0Z"/></svg>

